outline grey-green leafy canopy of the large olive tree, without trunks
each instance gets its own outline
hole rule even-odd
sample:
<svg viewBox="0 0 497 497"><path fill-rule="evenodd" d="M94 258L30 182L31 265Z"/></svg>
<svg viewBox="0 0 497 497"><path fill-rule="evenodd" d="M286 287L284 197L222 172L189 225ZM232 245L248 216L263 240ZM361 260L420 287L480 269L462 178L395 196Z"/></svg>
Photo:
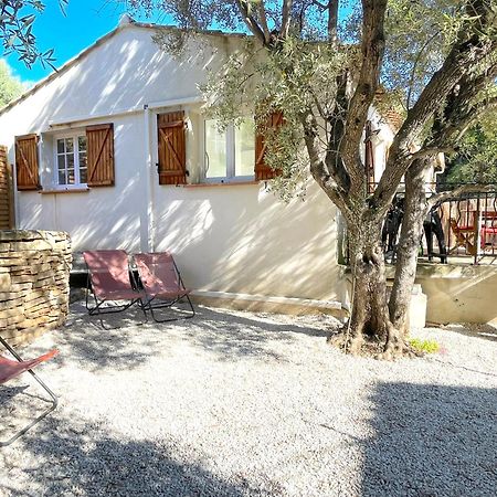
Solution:
<svg viewBox="0 0 497 497"><path fill-rule="evenodd" d="M488 2L487 7L493 12L496 1ZM290 3L293 7L289 35L278 38L285 4L282 0L130 2L133 8L148 12L151 9L161 9L178 27L188 29L165 30L156 36L172 53L184 50L186 41L205 29L250 32L252 22L252 25L258 27L260 32L265 29L266 32L271 31L271 36L275 33L276 38L273 40L269 36L273 41L265 43L265 46L256 31L254 36L245 41L240 39L239 50L226 56L221 70L213 72L201 89L208 102L207 113L218 119L221 127L236 123L243 114L255 114L258 116L257 129L262 130L267 116L283 110L284 126L277 130L264 131L267 136L265 161L274 169L283 171L273 186L285 200L295 193L303 194L305 179L308 177L309 156L303 146L305 112L315 118L313 126L320 138L317 150L319 157L341 160L332 158L336 149L331 149L331 146L338 147L338 141L336 137L335 141L331 137L337 127L341 126L340 123L347 121L349 98L362 63L358 45L362 35L361 2L351 2L350 6L356 8L353 14L347 22L342 19L339 23L341 43L338 45L330 43L327 38L329 27L326 2L294 0ZM343 6L343 2L340 4ZM426 83L441 68L454 43L468 40L476 33L479 21L477 17L468 14L469 4L467 0L389 0L385 17L387 50L381 67L384 94L374 102L380 113L385 114L393 108L405 116ZM247 24L241 14L243 8L247 9ZM488 36L495 35L491 28L478 32L485 32ZM495 51L490 56L497 56ZM491 66L488 60L479 64ZM480 65L475 64L473 71L480 72ZM349 94L337 99L338 82L342 82L343 77L348 81ZM480 99L488 95L486 91L476 93L478 96L475 98ZM474 103L468 102L467 105ZM443 124L446 104L445 98L430 103L432 108L440 105L440 109L435 119L426 121L424 130L412 137L413 141L423 142L430 137L434 120ZM476 152L472 157L473 163L484 162ZM489 157L487 155L486 159ZM331 162L327 166L334 169ZM336 169L340 170L339 167Z"/></svg>

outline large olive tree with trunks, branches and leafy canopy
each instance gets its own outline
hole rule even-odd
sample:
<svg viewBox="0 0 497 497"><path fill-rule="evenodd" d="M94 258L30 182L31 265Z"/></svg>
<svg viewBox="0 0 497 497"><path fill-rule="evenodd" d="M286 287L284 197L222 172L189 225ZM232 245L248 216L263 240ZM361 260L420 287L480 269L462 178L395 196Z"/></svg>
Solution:
<svg viewBox="0 0 497 497"><path fill-rule="evenodd" d="M210 110L229 121L252 106L262 127L264 114L283 112L284 125L266 129L267 162L282 172L276 187L295 191L310 175L347 223L352 308L338 340L351 352L368 337L383 343L384 358L409 352L406 313L423 218L450 194L426 199L424 172L496 107L497 1L362 0L347 25L338 0L129 3L162 9L188 29L157 36L170 51L207 28L243 27L252 34L204 87ZM360 149L371 106L385 105L377 102L380 92L403 123L372 190ZM388 297L381 226L403 180L405 215Z"/></svg>

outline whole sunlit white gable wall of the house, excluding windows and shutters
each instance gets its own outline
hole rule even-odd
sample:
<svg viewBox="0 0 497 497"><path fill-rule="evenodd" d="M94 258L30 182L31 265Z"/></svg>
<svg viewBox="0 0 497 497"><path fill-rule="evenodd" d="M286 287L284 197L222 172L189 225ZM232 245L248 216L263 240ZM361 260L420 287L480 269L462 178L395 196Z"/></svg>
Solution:
<svg viewBox="0 0 497 497"><path fill-rule="evenodd" d="M264 182L158 184L157 113L182 108L191 116L187 159L194 178L202 156L197 85L219 57L211 49L193 47L193 55L178 62L158 50L151 34L136 27L117 31L0 115L0 144L9 147L12 162L14 136L41 135L45 190L53 175L54 133L114 123L115 186L87 192L15 192L18 228L67 231L76 252L170 250L194 289L336 299L337 210L315 184L306 201L288 205L267 192ZM237 42L209 40L218 53ZM173 105L156 104L166 102Z"/></svg>

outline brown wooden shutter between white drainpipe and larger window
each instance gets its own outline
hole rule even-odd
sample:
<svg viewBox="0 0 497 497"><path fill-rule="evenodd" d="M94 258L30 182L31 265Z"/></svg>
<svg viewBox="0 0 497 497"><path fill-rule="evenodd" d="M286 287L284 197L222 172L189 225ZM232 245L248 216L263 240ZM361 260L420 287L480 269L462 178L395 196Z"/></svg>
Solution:
<svg viewBox="0 0 497 497"><path fill-rule="evenodd" d="M187 183L184 112L157 116L159 184Z"/></svg>

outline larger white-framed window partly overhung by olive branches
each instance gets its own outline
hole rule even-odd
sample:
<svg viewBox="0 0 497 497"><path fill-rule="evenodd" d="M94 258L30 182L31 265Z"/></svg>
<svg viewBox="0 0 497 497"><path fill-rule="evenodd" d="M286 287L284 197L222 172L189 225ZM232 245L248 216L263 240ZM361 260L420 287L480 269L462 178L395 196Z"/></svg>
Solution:
<svg viewBox="0 0 497 497"><path fill-rule="evenodd" d="M255 129L252 118L237 126L218 129L214 119L204 121L205 180L222 181L254 177Z"/></svg>

